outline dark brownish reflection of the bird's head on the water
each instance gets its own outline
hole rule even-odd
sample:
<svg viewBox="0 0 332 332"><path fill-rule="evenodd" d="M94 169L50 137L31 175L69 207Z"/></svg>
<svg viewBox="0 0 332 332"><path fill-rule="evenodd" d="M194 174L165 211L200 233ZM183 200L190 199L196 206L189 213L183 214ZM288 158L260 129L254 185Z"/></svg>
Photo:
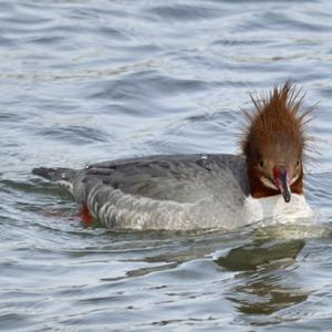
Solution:
<svg viewBox="0 0 332 332"><path fill-rule="evenodd" d="M217 258L218 266L240 271L227 298L243 314L266 315L305 301L309 291L282 278L284 269L293 268L304 245L298 239L259 239Z"/></svg>

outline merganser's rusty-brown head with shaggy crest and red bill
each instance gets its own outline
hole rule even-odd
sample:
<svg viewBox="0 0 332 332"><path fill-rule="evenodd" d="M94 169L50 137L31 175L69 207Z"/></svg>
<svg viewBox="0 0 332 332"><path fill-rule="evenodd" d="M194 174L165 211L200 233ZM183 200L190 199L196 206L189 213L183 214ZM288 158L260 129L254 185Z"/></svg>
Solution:
<svg viewBox="0 0 332 332"><path fill-rule="evenodd" d="M303 158L308 143L304 125L314 107L301 112L304 95L286 82L268 96L250 95L253 112L245 112L248 125L241 142L252 197L303 194Z"/></svg>

